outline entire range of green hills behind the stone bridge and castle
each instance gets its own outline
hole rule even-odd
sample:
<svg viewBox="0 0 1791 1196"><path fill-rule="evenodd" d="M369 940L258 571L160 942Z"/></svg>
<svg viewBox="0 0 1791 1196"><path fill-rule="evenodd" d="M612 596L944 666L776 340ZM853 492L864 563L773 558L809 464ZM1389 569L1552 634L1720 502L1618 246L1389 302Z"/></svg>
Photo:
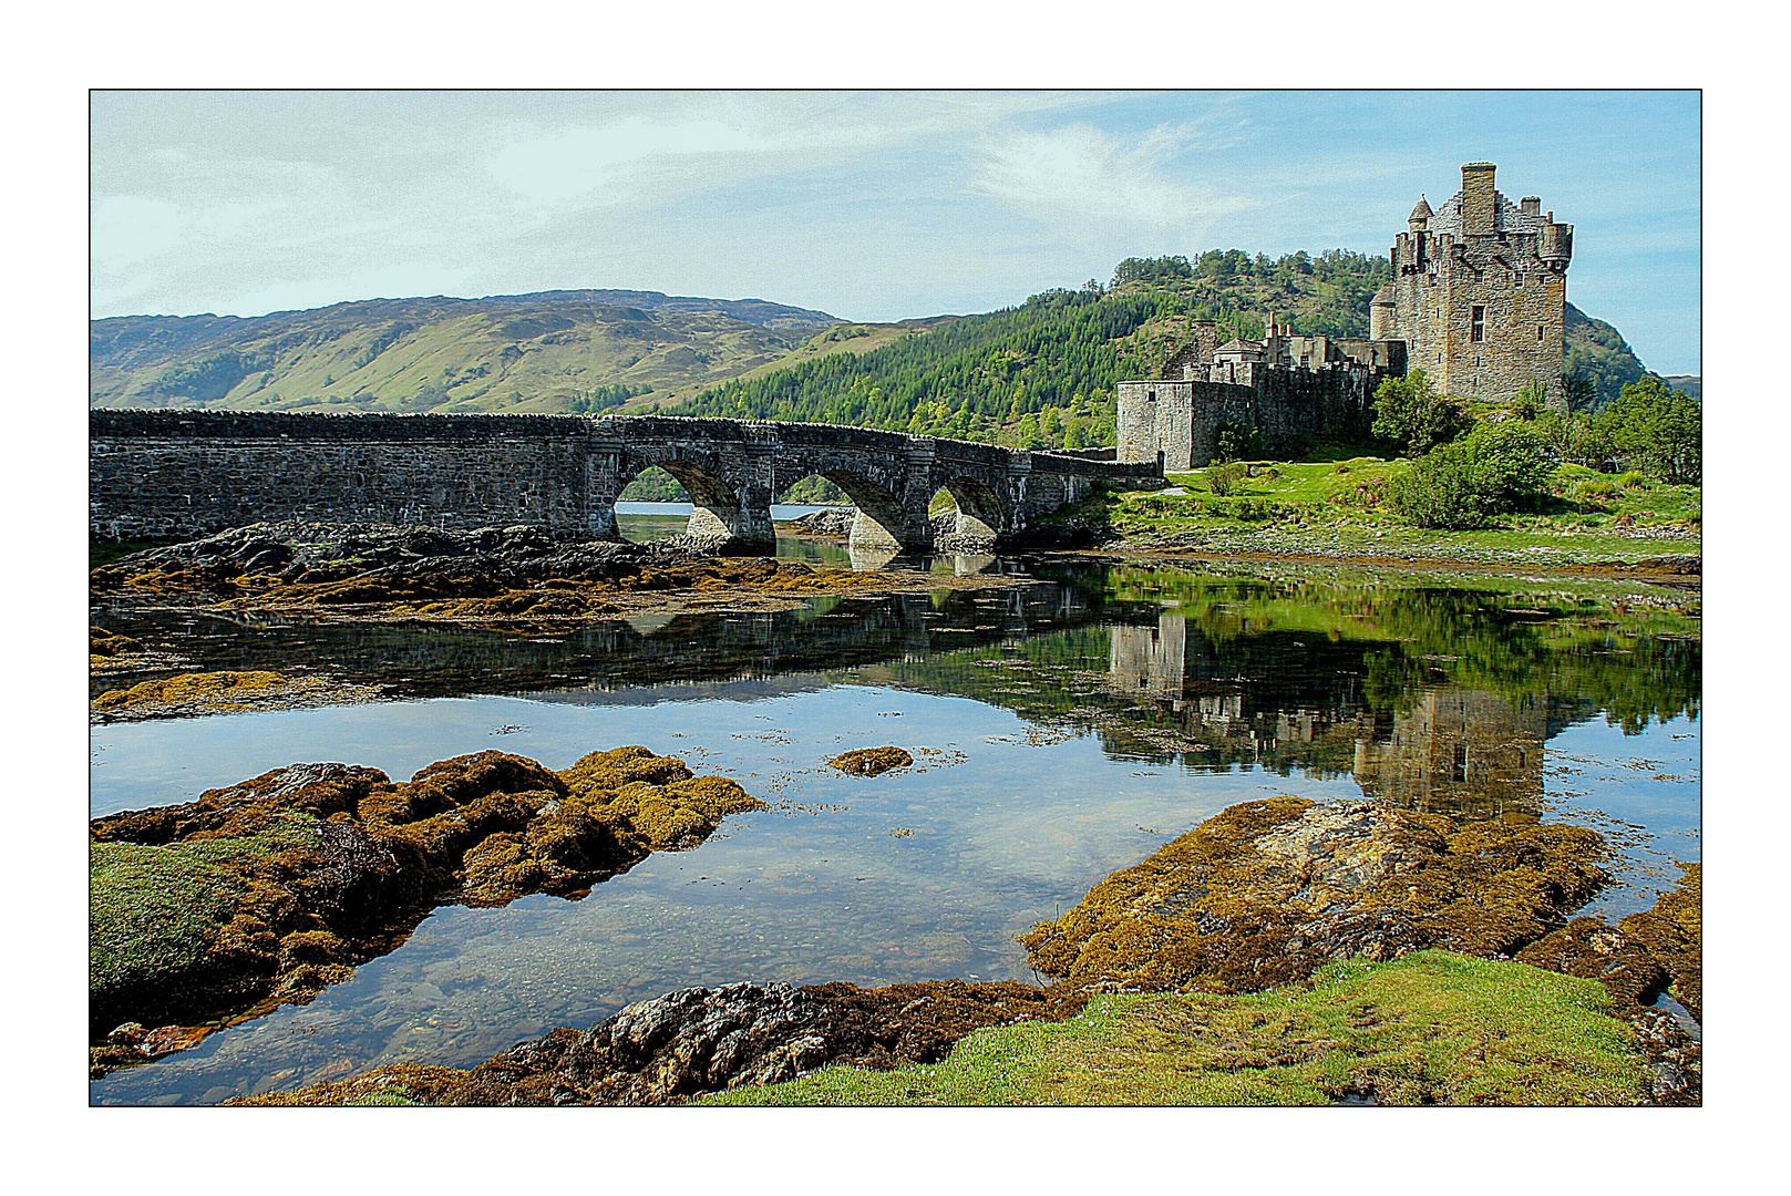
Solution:
<svg viewBox="0 0 1791 1196"><path fill-rule="evenodd" d="M630 290L133 315L91 324L91 403L670 410L1080 448L1114 442L1114 383L1157 376L1193 320L1261 337L1275 313L1297 333L1363 337L1386 270L1345 251L1127 258L1109 286L899 324ZM1592 378L1599 403L1646 372L1615 328L1572 304L1565 367Z"/></svg>

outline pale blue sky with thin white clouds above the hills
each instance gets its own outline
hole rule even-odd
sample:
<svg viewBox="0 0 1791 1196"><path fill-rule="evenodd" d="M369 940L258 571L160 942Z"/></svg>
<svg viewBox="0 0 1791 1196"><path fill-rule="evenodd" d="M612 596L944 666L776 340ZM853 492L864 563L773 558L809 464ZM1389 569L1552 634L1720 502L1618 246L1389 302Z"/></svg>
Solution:
<svg viewBox="0 0 1791 1196"><path fill-rule="evenodd" d="M95 91L91 315L553 288L987 312L1127 256L1384 254L1494 161L1700 372L1696 91Z"/></svg>

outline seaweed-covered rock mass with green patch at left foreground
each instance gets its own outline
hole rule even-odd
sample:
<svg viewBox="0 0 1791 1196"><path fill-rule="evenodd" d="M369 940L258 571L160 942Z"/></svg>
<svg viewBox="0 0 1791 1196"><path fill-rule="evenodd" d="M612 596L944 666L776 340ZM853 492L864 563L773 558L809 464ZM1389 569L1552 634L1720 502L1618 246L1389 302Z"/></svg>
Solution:
<svg viewBox="0 0 1791 1196"><path fill-rule="evenodd" d="M410 781L292 765L90 825L90 1029L304 999L389 951L435 904L578 897L654 850L759 807L643 747L564 772L507 752Z"/></svg>

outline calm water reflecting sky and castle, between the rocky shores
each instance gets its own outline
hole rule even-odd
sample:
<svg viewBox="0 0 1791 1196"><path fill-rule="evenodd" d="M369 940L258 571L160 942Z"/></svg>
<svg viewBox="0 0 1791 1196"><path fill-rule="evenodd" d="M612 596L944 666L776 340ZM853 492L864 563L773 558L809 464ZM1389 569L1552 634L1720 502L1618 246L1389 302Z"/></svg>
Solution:
<svg viewBox="0 0 1791 1196"><path fill-rule="evenodd" d="M584 901L439 910L310 1004L97 1081L102 1103L467 1065L686 985L1030 979L1014 935L1272 793L1585 822L1623 849L1594 902L1617 917L1673 883L1673 859L1698 858L1698 602L1657 587L1091 566L980 594L566 637L95 619L206 668L281 664L390 693L99 727L95 815L294 761L401 779L491 747L557 768L621 743L768 802ZM824 766L881 743L919 765L876 779Z"/></svg>

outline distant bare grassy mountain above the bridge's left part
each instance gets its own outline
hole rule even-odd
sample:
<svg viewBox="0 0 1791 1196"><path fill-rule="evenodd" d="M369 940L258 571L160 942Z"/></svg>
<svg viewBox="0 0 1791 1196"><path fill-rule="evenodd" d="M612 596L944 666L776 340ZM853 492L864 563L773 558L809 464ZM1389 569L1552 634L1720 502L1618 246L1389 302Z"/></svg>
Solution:
<svg viewBox="0 0 1791 1196"><path fill-rule="evenodd" d="M90 326L93 406L602 410L783 360L826 312L652 290L369 299L304 312L125 315Z"/></svg>

